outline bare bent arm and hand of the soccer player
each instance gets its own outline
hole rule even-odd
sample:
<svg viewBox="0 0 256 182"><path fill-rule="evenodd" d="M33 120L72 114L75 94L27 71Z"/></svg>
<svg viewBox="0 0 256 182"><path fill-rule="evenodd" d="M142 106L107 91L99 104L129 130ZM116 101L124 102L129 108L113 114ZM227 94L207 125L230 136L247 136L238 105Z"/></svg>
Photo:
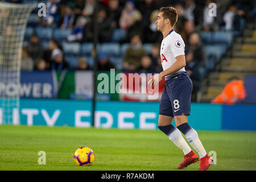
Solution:
<svg viewBox="0 0 256 182"><path fill-rule="evenodd" d="M179 55L175 57L175 59L175 63L172 64L170 68L166 69L163 72L160 72L159 74L152 76L151 80L148 81L148 84L157 85L163 79L164 76L171 75L172 73L175 73L179 71L181 68L185 67L186 61L184 55Z"/></svg>

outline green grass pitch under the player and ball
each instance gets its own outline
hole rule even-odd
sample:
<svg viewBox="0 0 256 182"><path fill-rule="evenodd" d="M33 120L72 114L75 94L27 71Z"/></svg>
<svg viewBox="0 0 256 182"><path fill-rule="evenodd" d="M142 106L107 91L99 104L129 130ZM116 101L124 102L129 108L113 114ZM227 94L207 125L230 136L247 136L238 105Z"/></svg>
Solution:
<svg viewBox="0 0 256 182"><path fill-rule="evenodd" d="M216 151L209 170L256 170L256 132L198 131L205 150ZM92 148L91 166L77 166L78 147ZM46 164L39 165L39 151ZM78 129L75 127L0 126L0 170L178 170L179 150L159 130ZM200 162L179 170L197 170Z"/></svg>

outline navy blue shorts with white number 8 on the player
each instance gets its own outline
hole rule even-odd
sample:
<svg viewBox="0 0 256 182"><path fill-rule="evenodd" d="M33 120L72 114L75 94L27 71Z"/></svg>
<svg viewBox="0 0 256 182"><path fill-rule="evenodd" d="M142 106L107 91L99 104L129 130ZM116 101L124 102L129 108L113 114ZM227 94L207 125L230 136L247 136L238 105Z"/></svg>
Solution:
<svg viewBox="0 0 256 182"><path fill-rule="evenodd" d="M159 114L174 117L190 115L192 81L187 72L174 73L166 78Z"/></svg>

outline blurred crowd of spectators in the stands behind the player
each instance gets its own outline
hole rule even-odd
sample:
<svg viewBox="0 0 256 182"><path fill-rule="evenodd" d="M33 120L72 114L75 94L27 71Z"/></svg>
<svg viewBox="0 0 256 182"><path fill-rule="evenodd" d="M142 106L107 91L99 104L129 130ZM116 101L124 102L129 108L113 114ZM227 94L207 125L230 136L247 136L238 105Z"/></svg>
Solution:
<svg viewBox="0 0 256 182"><path fill-rule="evenodd" d="M31 1L7 0L7 2L29 3ZM27 30L31 28L32 31L25 35L22 70L92 69L93 60L90 55L92 45L88 47L89 44L86 43L93 42L94 0L36 2L46 3L46 16L38 19L37 12L34 11L37 19L35 22L28 20ZM213 7L210 3L216 5L217 11L214 16L209 15ZM194 88L195 92L200 89L200 82L208 71L214 69L214 64L221 57L217 56L214 58L217 59L213 61L214 64L210 64L211 56L215 55L210 55L205 46L205 44L212 44L209 36L205 36L209 35L207 32L221 31L232 35L231 40L224 46L225 52L232 42L233 35L242 34L245 19L250 20L256 11L256 1L249 0L101 0L97 14L98 40L100 44L109 43L107 45L109 48L107 51L103 48L98 51L98 69L160 72L162 66L159 49L162 34L158 32L155 20L162 6L176 8L178 20L175 31L185 42L187 61L185 69L198 87ZM57 33L51 33L48 36L49 30ZM218 35L217 38L222 39ZM87 46L84 46L85 49L89 51L84 53L79 50L75 54L71 48L68 53L66 47L68 44L72 47L74 45L72 43L79 43L81 50L82 44L85 44ZM111 43L115 46L118 43L119 49L111 47Z"/></svg>

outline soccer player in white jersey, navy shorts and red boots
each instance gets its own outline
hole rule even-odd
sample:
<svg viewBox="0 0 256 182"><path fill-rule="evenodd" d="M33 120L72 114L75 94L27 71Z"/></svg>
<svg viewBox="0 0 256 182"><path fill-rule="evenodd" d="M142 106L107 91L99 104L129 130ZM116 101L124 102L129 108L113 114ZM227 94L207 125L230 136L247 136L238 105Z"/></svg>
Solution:
<svg viewBox="0 0 256 182"><path fill-rule="evenodd" d="M196 130L188 124L192 81L184 68L186 65L184 41L174 31L176 21L177 13L174 7L160 8L156 24L158 31L163 34L160 47L163 72L152 76L148 84L156 85L163 77L166 79L159 106L158 127L184 153L184 160L177 168L187 167L189 164L197 162L200 157L199 170L206 171L213 164L213 159L205 151ZM175 119L176 127L171 124L173 118ZM180 131L199 154L199 157L191 150Z"/></svg>

